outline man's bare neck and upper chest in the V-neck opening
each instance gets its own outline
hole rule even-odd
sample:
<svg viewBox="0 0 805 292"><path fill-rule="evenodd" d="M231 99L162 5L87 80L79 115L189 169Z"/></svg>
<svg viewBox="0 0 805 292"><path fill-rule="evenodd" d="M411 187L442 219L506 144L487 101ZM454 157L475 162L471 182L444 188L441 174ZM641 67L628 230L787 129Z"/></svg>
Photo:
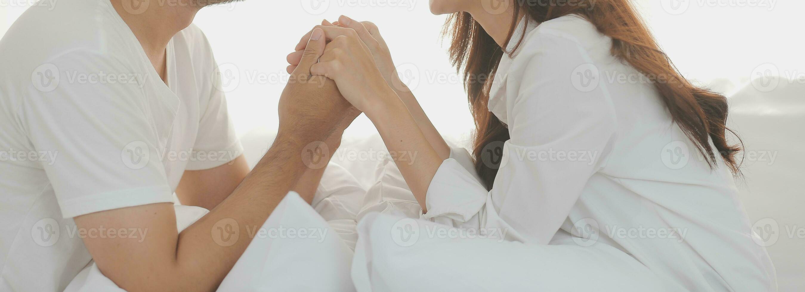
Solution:
<svg viewBox="0 0 805 292"><path fill-rule="evenodd" d="M165 47L176 33L192 23L201 6L173 6L167 5L167 2L164 2L165 5L159 5L160 2L142 0L110 0L110 2L137 37L156 72L159 72L159 76L165 80Z"/></svg>

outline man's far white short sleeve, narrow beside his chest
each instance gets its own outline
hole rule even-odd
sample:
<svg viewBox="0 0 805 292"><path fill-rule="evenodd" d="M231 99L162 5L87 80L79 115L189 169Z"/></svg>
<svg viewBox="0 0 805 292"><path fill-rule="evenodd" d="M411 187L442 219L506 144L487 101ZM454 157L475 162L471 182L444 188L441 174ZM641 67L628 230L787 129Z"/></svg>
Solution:
<svg viewBox="0 0 805 292"><path fill-rule="evenodd" d="M193 158L188 161L185 168L188 171L200 171L210 169L213 167L221 166L227 162L232 161L243 154L243 147L240 140L235 133L232 119L229 117L229 111L226 106L225 93L221 90L221 75L218 74L216 68L217 63L213 58L212 49L206 43L206 39L198 31L200 35L200 47L203 48L204 53L195 52L197 58L204 58L200 60L200 64L208 64L204 71L208 76L202 80L200 86L204 90L202 93L209 93L208 97L201 98L199 131L196 136L196 142L193 144L192 156ZM210 158L211 155L215 158Z"/></svg>

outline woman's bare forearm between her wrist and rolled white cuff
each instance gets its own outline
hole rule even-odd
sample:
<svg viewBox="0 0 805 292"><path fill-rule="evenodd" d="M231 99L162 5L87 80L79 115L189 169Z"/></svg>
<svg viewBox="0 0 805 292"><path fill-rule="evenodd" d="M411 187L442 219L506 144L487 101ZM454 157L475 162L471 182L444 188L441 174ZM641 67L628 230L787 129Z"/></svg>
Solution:
<svg viewBox="0 0 805 292"><path fill-rule="evenodd" d="M411 188L411 192L423 211L427 212L425 206L427 187L430 186L431 179L436 175L444 158L441 158L431 146L431 142L420 130L417 121L403 101L397 96L389 97L386 100L383 106L378 106L373 113L367 112L366 115L378 128L383 142L386 143L386 148L395 154L392 157L394 157L400 173L403 174L403 179ZM438 133L436 134L438 135ZM443 139L440 138L440 141L449 156L449 148L444 144Z"/></svg>

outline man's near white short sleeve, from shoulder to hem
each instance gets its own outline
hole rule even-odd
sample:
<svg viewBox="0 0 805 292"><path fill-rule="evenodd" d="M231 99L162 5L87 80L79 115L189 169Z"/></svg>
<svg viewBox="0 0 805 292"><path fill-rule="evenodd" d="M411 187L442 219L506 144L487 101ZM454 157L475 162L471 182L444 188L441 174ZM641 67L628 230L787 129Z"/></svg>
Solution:
<svg viewBox="0 0 805 292"><path fill-rule="evenodd" d="M35 150L55 157L42 167L62 216L171 202L142 84L92 79L138 73L114 58L81 51L45 66L60 82L38 87L44 90L29 86L19 115Z"/></svg>

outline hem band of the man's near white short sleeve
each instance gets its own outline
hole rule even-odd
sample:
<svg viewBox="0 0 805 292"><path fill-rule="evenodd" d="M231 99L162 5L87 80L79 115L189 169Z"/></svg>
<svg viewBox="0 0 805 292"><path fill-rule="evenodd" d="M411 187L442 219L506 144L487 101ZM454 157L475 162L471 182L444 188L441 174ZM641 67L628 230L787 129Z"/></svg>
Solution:
<svg viewBox="0 0 805 292"><path fill-rule="evenodd" d="M138 187L64 200L59 202L59 207L61 216L66 219L118 208L172 203L172 194L168 186Z"/></svg>

